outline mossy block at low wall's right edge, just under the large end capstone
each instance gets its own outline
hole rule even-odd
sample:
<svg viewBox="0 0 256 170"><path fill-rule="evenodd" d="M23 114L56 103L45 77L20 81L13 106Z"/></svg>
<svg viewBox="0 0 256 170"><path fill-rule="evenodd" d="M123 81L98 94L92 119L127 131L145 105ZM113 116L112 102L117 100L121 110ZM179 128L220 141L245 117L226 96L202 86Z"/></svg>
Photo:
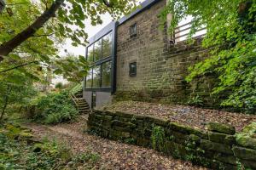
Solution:
<svg viewBox="0 0 256 170"><path fill-rule="evenodd" d="M247 149L239 146L232 148L236 157L244 160L256 161L256 150Z"/></svg>

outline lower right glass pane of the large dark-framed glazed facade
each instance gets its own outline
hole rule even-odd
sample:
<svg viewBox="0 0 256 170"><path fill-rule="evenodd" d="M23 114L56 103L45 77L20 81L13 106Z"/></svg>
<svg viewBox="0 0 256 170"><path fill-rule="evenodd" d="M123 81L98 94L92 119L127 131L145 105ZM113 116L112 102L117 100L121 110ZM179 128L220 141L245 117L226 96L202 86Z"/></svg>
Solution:
<svg viewBox="0 0 256 170"><path fill-rule="evenodd" d="M111 87L111 62L102 64L102 88Z"/></svg>

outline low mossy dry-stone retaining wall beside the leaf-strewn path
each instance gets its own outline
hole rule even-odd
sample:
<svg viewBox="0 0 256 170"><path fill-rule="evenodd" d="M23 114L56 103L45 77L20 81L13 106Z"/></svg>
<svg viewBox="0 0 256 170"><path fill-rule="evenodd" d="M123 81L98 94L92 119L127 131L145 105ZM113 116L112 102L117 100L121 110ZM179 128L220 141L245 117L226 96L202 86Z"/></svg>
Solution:
<svg viewBox="0 0 256 170"><path fill-rule="evenodd" d="M103 138L153 148L212 169L256 169L256 123L236 133L235 127L210 122L205 132L153 116L93 111L88 127Z"/></svg>

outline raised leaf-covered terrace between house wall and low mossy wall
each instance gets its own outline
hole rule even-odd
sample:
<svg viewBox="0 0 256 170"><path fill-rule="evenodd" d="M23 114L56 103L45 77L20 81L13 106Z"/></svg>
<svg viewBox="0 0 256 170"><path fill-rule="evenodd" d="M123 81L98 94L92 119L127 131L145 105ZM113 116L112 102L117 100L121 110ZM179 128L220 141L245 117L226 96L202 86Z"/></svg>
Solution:
<svg viewBox="0 0 256 170"><path fill-rule="evenodd" d="M161 105L138 101L121 101L100 109L166 118L171 122L180 122L203 130L206 129L207 122L223 122L233 125L236 127L236 131L240 132L245 125L250 122L256 122L256 115L201 109L188 105Z"/></svg>

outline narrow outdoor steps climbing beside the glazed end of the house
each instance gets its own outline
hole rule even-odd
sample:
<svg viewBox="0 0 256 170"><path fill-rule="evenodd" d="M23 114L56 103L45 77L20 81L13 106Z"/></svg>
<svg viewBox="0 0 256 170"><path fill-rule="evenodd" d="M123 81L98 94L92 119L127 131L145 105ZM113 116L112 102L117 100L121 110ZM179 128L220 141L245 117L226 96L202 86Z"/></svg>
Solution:
<svg viewBox="0 0 256 170"><path fill-rule="evenodd" d="M83 99L83 90L79 90L76 94L71 94L71 98L81 115L90 114L90 106Z"/></svg>

